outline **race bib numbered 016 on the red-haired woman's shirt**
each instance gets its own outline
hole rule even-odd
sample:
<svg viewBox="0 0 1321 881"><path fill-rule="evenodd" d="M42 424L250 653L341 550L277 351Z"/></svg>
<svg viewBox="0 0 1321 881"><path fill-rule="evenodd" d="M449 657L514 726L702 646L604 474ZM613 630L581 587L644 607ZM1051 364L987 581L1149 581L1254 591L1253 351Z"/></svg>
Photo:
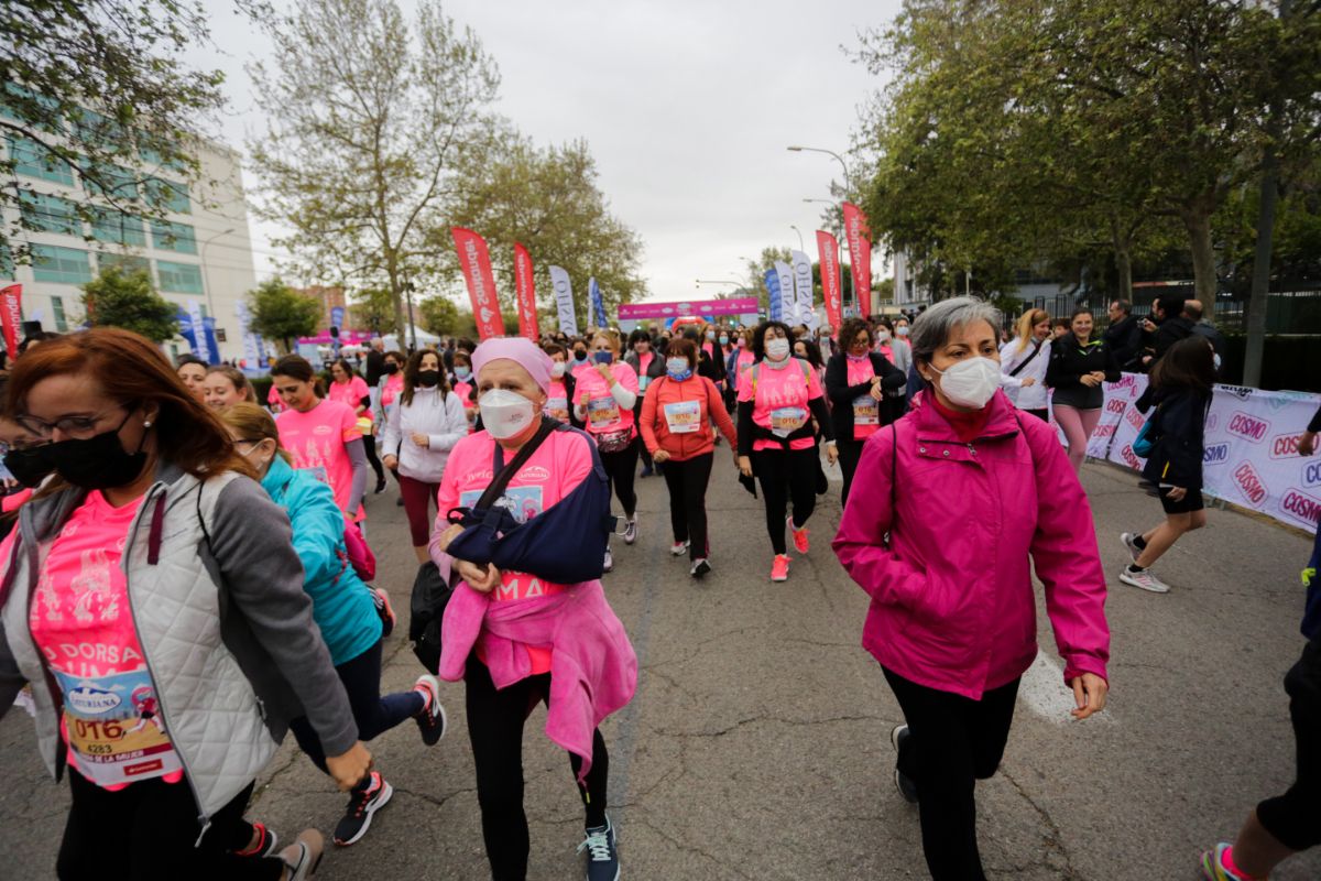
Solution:
<svg viewBox="0 0 1321 881"><path fill-rule="evenodd" d="M122 786L182 770L147 670L98 678L54 674L65 696L65 736L83 777Z"/></svg>

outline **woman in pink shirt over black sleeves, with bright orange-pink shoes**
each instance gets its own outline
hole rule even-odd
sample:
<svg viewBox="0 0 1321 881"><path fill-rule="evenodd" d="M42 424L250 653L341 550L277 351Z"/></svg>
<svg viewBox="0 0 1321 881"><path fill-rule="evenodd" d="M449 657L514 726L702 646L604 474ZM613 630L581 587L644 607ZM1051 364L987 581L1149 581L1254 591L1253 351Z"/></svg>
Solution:
<svg viewBox="0 0 1321 881"><path fill-rule="evenodd" d="M794 549L807 553L807 519L816 507L815 427L826 439L831 464L839 457L826 392L816 370L793 357L787 325L766 321L753 332L757 362L744 375L738 390L738 470L757 476L766 503L766 532L775 552L770 580L789 579L789 546L785 528L794 536ZM794 512L787 514L790 499Z"/></svg>

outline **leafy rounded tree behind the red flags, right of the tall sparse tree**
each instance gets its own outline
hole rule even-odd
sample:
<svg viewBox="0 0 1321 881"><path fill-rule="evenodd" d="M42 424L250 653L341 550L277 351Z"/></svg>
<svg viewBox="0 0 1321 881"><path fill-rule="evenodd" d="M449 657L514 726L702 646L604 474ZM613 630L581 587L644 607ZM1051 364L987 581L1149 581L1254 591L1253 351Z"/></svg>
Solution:
<svg viewBox="0 0 1321 881"><path fill-rule="evenodd" d="M514 244L532 255L536 289L553 300L548 267L563 267L573 280L575 312L588 308L588 279L596 276L608 313L646 293L641 275L642 240L610 213L597 186L596 160L585 141L538 149L526 137L505 132L465 170L466 184L432 246L453 260L450 226L477 231L490 246L491 268L505 308L514 305ZM592 324L590 321L584 324ZM517 324L515 324L517 326Z"/></svg>

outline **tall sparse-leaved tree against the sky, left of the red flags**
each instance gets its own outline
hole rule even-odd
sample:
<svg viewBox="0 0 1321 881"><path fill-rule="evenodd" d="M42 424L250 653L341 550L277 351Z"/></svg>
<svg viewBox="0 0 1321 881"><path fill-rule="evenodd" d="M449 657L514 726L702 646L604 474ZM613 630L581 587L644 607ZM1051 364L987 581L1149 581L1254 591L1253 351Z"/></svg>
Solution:
<svg viewBox="0 0 1321 881"><path fill-rule="evenodd" d="M403 328L404 283L436 268L424 232L487 144L495 65L440 0L411 21L395 0L299 0L268 30L273 61L251 67L268 119L250 145L258 213L301 263L384 284Z"/></svg>

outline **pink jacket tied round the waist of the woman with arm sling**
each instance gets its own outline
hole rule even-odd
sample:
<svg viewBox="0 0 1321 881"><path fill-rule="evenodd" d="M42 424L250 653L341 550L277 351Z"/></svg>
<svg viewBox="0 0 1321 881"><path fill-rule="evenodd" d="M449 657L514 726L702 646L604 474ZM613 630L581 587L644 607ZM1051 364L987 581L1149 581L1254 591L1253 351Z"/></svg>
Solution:
<svg viewBox="0 0 1321 881"><path fill-rule="evenodd" d="M638 656L600 581L511 602L491 602L461 582L445 606L440 645L441 679L461 680L469 654L481 646L495 688L530 675L523 646L550 646L546 736L583 759L579 782L592 770L592 733L638 688Z"/></svg>

